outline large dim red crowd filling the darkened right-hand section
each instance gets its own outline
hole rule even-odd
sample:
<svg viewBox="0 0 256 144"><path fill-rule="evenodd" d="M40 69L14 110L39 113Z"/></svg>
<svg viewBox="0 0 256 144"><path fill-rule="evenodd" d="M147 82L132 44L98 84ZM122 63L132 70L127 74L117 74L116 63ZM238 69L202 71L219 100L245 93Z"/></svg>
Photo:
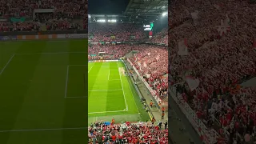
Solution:
<svg viewBox="0 0 256 144"><path fill-rule="evenodd" d="M169 10L171 84L223 143L255 142L256 90L240 86L256 75L255 3L184 0Z"/></svg>

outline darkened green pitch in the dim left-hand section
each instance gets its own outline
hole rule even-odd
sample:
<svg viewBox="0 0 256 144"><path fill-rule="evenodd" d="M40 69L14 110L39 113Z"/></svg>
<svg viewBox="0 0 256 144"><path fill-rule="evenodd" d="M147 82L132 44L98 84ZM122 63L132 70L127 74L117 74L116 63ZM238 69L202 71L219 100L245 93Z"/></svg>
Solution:
<svg viewBox="0 0 256 144"><path fill-rule="evenodd" d="M87 40L0 42L0 144L87 140Z"/></svg>

